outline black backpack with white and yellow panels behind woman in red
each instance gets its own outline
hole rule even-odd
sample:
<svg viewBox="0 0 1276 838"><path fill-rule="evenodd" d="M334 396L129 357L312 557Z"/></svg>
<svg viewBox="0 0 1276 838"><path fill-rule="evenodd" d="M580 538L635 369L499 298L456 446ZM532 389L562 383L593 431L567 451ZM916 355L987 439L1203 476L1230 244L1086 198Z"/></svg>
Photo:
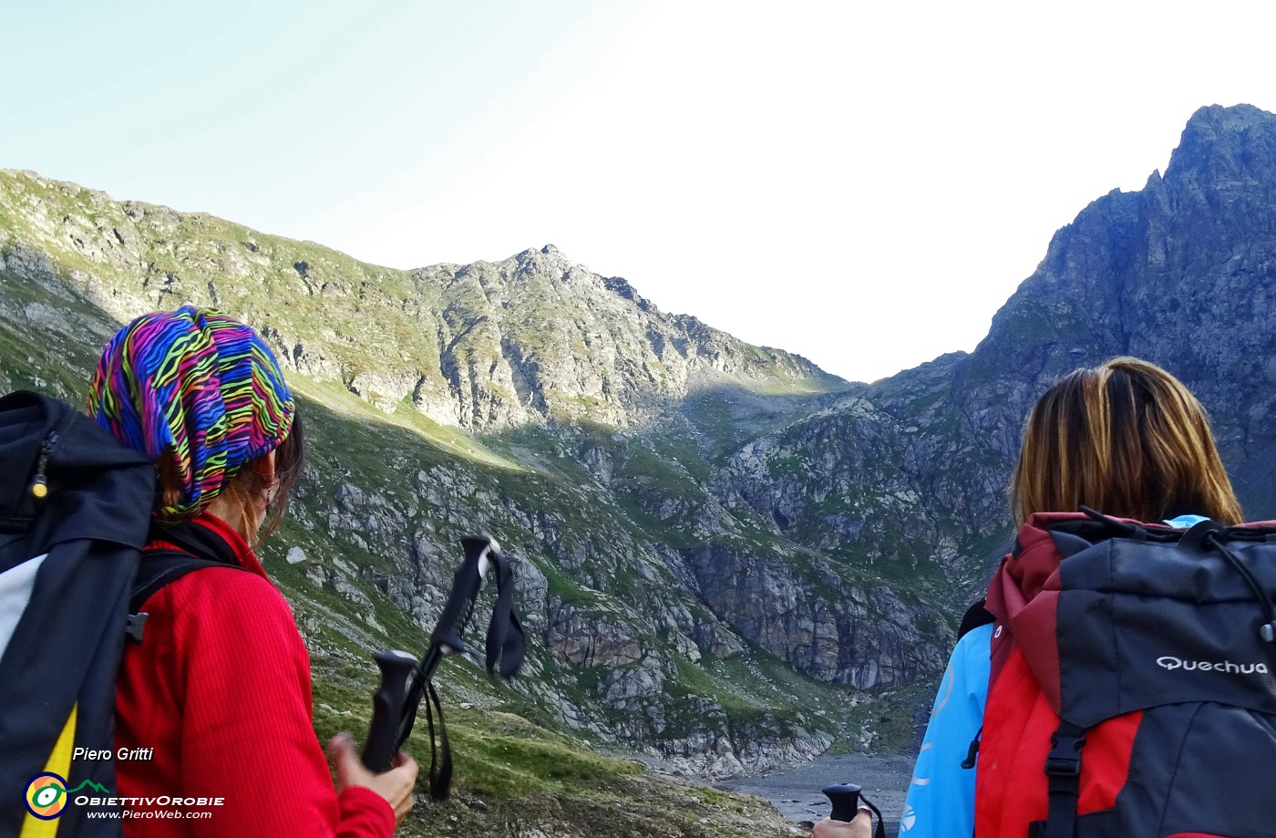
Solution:
<svg viewBox="0 0 1276 838"><path fill-rule="evenodd" d="M112 747L154 484L143 453L70 405L0 399L0 838L33 823L26 793L41 773L68 788L116 788L112 760L71 754ZM120 820L87 824L84 814L68 806L41 834L121 834Z"/></svg>

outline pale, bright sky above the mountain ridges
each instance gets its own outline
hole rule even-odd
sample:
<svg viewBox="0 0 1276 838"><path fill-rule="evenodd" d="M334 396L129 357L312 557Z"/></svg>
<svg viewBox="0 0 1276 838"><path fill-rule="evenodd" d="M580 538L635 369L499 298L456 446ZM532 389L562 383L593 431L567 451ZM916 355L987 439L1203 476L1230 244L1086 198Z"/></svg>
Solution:
<svg viewBox="0 0 1276 838"><path fill-rule="evenodd" d="M873 381L971 350L1270 3L0 0L0 169L413 268L554 244Z"/></svg>

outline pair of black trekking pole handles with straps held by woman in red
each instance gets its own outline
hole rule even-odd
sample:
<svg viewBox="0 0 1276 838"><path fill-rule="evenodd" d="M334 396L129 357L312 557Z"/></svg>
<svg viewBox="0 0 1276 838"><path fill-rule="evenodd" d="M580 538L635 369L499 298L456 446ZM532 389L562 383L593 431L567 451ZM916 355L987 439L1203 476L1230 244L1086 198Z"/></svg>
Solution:
<svg viewBox="0 0 1276 838"><path fill-rule="evenodd" d="M461 637L473 614L475 600L484 580L490 575L495 575L498 588L496 604L487 627L487 673L512 678L523 663L523 630L513 608L513 574L509 562L500 552L500 544L491 538L466 538L461 544L464 560L453 575L452 591L448 594L438 626L430 634L430 646L421 662L417 663L406 651L383 651L375 657L376 666L382 671L382 683L373 695L373 720L362 754L364 765L369 770L388 772L394 754L403 747L412 732L417 708L429 695L439 714L443 742L441 765L436 764L436 752L431 754L430 761L430 793L435 800L448 795L452 752L448 747L447 728L443 726L443 706L434 690L434 672L444 655L466 650ZM430 745L434 749L434 717L429 705L426 720L430 724Z"/></svg>

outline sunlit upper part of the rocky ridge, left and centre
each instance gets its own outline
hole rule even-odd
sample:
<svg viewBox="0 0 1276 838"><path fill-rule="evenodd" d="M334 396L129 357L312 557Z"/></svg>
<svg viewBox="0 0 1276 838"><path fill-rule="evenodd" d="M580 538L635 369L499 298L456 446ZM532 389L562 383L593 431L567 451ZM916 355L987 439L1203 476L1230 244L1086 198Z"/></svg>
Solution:
<svg viewBox="0 0 1276 838"><path fill-rule="evenodd" d="M665 314L553 244L500 262L393 271L34 174L0 174L0 199L15 210L15 247L119 318L219 305L264 330L296 372L445 425L624 427L660 420L718 378L776 393L846 385L805 359Z"/></svg>

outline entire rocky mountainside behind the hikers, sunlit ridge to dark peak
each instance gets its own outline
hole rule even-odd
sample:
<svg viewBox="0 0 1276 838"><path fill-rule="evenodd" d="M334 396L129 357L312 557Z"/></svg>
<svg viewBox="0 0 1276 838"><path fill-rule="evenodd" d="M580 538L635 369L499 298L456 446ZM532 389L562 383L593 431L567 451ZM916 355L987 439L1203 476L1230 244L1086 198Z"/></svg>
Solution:
<svg viewBox="0 0 1276 838"><path fill-rule="evenodd" d="M1009 531L1023 416L1058 374L1165 365L1271 515L1273 149L1272 115L1202 109L1164 178L1055 235L974 353L872 386L662 313L553 247L390 271L4 172L0 385L78 397L147 309L248 319L315 429L276 575L322 672L426 631L457 539L490 531L519 560L528 712L688 769L762 770L866 745L883 703L865 691L942 668Z"/></svg>

